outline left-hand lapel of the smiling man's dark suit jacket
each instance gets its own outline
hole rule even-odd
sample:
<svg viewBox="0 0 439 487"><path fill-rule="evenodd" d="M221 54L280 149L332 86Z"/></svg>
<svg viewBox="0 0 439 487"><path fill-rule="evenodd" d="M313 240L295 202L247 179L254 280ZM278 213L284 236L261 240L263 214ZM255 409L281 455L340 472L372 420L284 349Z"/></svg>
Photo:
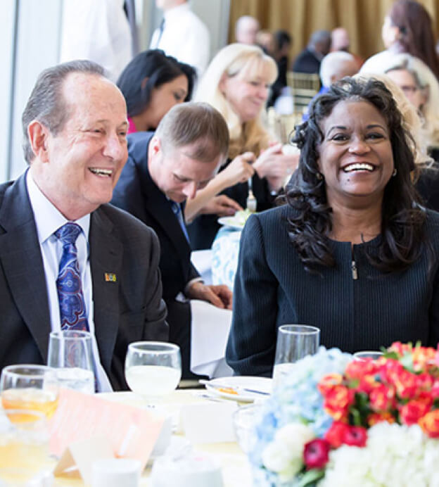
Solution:
<svg viewBox="0 0 439 487"><path fill-rule="evenodd" d="M0 261L6 281L46 361L51 331L46 275L25 175L6 190L0 208L0 225L5 230L0 234Z"/></svg>

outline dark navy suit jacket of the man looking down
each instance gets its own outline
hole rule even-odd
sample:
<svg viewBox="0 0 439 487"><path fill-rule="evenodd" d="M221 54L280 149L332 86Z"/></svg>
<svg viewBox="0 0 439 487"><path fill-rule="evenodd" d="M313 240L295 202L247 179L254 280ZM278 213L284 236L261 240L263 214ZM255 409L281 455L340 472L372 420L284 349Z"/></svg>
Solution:
<svg viewBox="0 0 439 487"><path fill-rule="evenodd" d="M128 136L128 160L113 191L111 203L127 210L152 227L160 241L160 272L163 282L163 299L167 306L170 341L177 343L182 352L184 379L193 377L190 372L191 307L189 302L176 301L186 284L199 277L191 264L191 248L166 198L148 170L148 146L152 132L136 132Z"/></svg>

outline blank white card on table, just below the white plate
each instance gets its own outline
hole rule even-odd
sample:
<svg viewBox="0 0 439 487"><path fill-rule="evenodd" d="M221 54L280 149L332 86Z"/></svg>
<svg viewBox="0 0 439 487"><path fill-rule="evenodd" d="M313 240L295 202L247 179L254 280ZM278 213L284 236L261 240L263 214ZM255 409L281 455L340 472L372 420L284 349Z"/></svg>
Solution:
<svg viewBox="0 0 439 487"><path fill-rule="evenodd" d="M182 407L181 420L186 438L193 443L236 441L232 415L236 403L205 403Z"/></svg>

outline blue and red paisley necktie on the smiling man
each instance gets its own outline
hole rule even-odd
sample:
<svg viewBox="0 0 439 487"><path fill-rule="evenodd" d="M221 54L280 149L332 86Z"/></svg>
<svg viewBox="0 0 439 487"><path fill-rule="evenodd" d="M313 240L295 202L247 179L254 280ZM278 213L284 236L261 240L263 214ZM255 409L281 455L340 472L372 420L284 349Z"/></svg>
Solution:
<svg viewBox="0 0 439 487"><path fill-rule="evenodd" d="M70 222L55 232L56 238L63 244L63 256L56 279L62 330L89 331L75 245L80 232L81 227Z"/></svg>

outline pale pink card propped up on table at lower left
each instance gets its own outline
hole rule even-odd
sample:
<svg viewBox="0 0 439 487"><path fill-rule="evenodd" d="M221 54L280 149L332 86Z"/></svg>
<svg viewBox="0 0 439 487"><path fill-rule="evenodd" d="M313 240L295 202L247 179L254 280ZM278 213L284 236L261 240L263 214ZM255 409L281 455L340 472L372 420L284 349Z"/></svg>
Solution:
<svg viewBox="0 0 439 487"><path fill-rule="evenodd" d="M76 462L81 474L91 472L91 463L108 457L108 452L112 457L135 458L144 469L164 421L139 407L61 388L58 408L49 421L50 450L63 457L69 449L68 458ZM96 438L100 438L97 443ZM81 455L75 447L77 442L94 455Z"/></svg>

